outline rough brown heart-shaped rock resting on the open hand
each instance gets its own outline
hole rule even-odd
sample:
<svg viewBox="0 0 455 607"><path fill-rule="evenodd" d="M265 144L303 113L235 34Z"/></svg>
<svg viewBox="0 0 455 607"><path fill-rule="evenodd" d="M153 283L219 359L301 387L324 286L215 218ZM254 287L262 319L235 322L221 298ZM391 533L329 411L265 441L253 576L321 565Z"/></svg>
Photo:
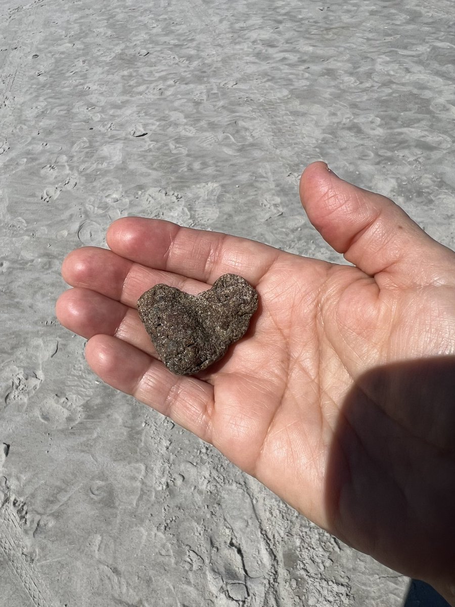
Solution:
<svg viewBox="0 0 455 607"><path fill-rule="evenodd" d="M177 375L194 375L244 335L257 302L244 278L224 274L198 295L155 285L139 298L138 311L166 367Z"/></svg>

